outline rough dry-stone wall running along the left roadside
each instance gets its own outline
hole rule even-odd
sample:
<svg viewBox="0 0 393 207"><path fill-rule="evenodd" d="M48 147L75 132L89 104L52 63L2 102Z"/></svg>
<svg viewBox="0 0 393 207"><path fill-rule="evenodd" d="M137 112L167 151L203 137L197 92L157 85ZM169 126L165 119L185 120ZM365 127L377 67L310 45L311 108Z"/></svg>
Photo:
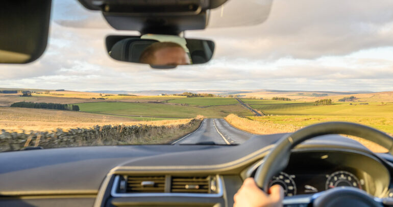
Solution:
<svg viewBox="0 0 393 207"><path fill-rule="evenodd" d="M23 131L22 133L0 131L0 151L21 150L32 147L58 148L97 145L127 145L127 144L165 144L165 140L143 143L144 135L151 135L152 131L160 135L169 130L186 131L200 120L192 119L187 124L152 126L152 125L106 125L91 128L76 128L63 131ZM141 139L142 137L142 139ZM141 143L142 140L142 143ZM161 142L161 143L160 143Z"/></svg>

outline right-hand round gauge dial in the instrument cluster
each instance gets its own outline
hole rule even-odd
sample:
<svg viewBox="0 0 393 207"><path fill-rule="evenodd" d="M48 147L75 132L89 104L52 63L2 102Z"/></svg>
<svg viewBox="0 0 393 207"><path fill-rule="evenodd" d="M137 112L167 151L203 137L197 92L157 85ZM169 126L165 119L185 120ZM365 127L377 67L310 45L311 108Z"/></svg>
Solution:
<svg viewBox="0 0 393 207"><path fill-rule="evenodd" d="M336 187L354 187L362 189L359 179L347 171L337 171L328 176L326 190Z"/></svg>

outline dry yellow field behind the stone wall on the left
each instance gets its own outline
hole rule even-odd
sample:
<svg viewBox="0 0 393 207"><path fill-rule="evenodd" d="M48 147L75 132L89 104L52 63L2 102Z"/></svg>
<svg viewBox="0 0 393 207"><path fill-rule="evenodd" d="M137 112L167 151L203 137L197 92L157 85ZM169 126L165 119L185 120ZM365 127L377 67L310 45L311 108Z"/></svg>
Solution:
<svg viewBox="0 0 393 207"><path fill-rule="evenodd" d="M7 131L50 131L57 128L66 131L71 128L89 128L95 125L136 125L155 126L188 123L190 119L136 121L130 118L105 116L76 111L47 110L34 108L0 107L0 129Z"/></svg>

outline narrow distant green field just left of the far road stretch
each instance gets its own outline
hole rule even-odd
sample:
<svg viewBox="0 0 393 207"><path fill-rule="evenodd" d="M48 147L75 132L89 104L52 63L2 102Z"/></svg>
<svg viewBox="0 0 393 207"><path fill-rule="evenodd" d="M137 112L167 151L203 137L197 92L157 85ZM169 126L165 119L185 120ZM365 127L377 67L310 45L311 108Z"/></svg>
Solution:
<svg viewBox="0 0 393 207"><path fill-rule="evenodd" d="M169 100L168 103L188 104L190 106L216 106L238 104L239 102L233 98L193 97Z"/></svg>

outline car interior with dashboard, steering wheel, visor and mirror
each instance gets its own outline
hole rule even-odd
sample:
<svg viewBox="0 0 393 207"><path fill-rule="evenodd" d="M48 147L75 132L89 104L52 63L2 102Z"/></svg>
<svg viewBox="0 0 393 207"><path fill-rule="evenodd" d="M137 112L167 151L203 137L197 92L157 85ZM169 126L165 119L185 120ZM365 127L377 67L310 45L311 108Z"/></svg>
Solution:
<svg viewBox="0 0 393 207"><path fill-rule="evenodd" d="M106 53L140 62L151 45L176 39L189 64L214 59L209 37L189 30L214 25L213 11L231 0L78 0L99 11L116 30ZM235 1L235 0L232 0ZM2 2L0 63L26 64L45 51L51 0ZM262 13L268 13L265 1ZM255 14L250 14L255 15ZM261 14L260 24L267 17ZM247 22L242 22L247 24ZM158 37L154 37L158 35ZM177 63L156 65L175 68ZM388 150L375 153L346 136ZM283 206L393 206L393 138L348 122L327 122L293 133L254 135L241 145L122 145L2 152L0 206L233 206L243 180L264 192L284 189ZM296 183L296 184L295 184Z"/></svg>

